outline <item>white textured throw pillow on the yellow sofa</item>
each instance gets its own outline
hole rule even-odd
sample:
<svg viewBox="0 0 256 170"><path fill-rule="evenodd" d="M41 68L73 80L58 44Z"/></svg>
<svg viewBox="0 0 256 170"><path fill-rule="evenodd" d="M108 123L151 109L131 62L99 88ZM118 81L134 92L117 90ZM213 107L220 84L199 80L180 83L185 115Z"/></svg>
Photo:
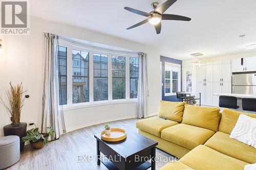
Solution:
<svg viewBox="0 0 256 170"><path fill-rule="evenodd" d="M256 148L256 118L241 114L229 137Z"/></svg>

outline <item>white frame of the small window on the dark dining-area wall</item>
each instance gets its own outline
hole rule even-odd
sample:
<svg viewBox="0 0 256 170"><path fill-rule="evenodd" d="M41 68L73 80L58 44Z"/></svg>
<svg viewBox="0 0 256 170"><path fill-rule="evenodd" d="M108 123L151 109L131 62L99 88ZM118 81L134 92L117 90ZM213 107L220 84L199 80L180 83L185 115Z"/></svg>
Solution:
<svg viewBox="0 0 256 170"><path fill-rule="evenodd" d="M179 67L179 70L175 70L175 69L166 69L166 65L172 65L175 67ZM170 71L170 79L166 79L165 78L165 71ZM164 96L172 96L172 95L176 95L176 92L173 92L173 80L177 80L177 79L173 79L173 71L178 72L178 91L181 91L181 65L180 64L174 64L174 63L169 63L169 62L164 62ZM170 92L166 93L165 92L165 80L170 80Z"/></svg>

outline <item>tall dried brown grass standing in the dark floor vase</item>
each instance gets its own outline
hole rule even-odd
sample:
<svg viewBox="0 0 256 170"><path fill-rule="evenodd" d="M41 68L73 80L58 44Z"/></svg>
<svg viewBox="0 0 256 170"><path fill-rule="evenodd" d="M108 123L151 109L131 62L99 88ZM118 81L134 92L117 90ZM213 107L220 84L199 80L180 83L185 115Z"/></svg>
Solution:
<svg viewBox="0 0 256 170"><path fill-rule="evenodd" d="M27 90L26 90L27 91ZM0 97L0 103L5 107L8 115L11 119L12 124L20 123L20 113L22 112L22 107L24 106L24 93L22 83L12 85L10 82L10 89L5 90L7 102Z"/></svg>

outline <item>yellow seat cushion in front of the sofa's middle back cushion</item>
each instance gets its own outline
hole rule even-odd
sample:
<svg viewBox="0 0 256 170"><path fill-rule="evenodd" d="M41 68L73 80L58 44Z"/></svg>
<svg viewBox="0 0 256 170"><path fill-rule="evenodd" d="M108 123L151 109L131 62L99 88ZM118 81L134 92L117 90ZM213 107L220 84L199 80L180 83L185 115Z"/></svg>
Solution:
<svg viewBox="0 0 256 170"><path fill-rule="evenodd" d="M192 150L204 144L214 133L208 129L179 124L162 130L161 138Z"/></svg>

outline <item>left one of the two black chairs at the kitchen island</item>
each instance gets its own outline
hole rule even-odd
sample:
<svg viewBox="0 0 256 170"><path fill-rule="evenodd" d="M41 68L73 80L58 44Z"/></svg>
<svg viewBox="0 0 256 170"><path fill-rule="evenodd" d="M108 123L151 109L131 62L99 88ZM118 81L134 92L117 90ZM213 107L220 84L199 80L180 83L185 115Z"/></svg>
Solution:
<svg viewBox="0 0 256 170"><path fill-rule="evenodd" d="M221 95L219 106L224 108L238 109L238 99L234 96Z"/></svg>

